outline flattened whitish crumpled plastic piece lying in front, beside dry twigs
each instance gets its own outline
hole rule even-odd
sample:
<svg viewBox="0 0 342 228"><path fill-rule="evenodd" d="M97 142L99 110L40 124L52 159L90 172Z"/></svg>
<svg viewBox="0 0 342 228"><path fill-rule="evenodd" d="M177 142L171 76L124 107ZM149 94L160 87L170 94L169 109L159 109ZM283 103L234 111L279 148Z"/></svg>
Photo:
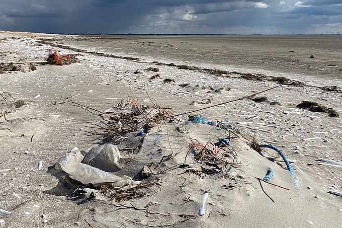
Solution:
<svg viewBox="0 0 342 228"><path fill-rule="evenodd" d="M128 176L118 177L83 163L78 163L70 178L82 184L93 184L94 186L111 184L113 187L123 187L132 183L132 178Z"/></svg>

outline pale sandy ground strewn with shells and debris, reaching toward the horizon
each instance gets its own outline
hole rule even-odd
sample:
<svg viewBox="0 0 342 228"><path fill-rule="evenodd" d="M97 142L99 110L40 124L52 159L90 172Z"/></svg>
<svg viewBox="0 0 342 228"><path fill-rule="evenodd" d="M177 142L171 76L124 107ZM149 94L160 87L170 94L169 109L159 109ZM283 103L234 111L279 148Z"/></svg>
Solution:
<svg viewBox="0 0 342 228"><path fill-rule="evenodd" d="M265 40L253 50L235 37L227 63L201 54L229 55L223 41L201 49L203 38L169 38L167 48L193 55L185 59L158 55L166 38L97 39L0 31L0 62L23 69L0 73L0 227L340 226L342 197L331 193L342 192L340 37L325 37L327 47L274 38L264 59ZM79 62L46 64L51 48ZM99 144L119 148L113 174L133 178L126 192L58 176L62 156Z"/></svg>

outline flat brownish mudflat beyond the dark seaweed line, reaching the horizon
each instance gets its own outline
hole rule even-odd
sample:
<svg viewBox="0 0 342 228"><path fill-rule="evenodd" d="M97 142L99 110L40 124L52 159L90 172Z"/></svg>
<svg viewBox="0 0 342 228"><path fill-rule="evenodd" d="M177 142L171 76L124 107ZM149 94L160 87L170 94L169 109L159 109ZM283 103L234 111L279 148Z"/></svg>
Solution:
<svg viewBox="0 0 342 228"><path fill-rule="evenodd" d="M83 36L63 43L165 63L254 69L328 80L340 80L342 75L339 35Z"/></svg>

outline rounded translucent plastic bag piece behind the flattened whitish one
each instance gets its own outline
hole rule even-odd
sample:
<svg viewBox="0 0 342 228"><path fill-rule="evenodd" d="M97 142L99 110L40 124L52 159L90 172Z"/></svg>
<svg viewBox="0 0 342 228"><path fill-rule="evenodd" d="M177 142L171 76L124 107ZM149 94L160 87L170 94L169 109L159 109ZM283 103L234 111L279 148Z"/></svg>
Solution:
<svg viewBox="0 0 342 228"><path fill-rule="evenodd" d="M84 154L82 163L106 172L117 172L122 170L120 159L121 155L116 145L103 144L93 147L89 153Z"/></svg>

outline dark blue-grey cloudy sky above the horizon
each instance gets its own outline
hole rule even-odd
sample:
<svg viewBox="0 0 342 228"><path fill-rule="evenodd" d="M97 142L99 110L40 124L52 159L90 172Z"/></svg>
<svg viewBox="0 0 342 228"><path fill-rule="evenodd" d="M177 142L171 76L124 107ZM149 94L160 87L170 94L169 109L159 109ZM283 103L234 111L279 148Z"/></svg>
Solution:
<svg viewBox="0 0 342 228"><path fill-rule="evenodd" d="M0 30L44 33L342 33L342 0L0 0Z"/></svg>

